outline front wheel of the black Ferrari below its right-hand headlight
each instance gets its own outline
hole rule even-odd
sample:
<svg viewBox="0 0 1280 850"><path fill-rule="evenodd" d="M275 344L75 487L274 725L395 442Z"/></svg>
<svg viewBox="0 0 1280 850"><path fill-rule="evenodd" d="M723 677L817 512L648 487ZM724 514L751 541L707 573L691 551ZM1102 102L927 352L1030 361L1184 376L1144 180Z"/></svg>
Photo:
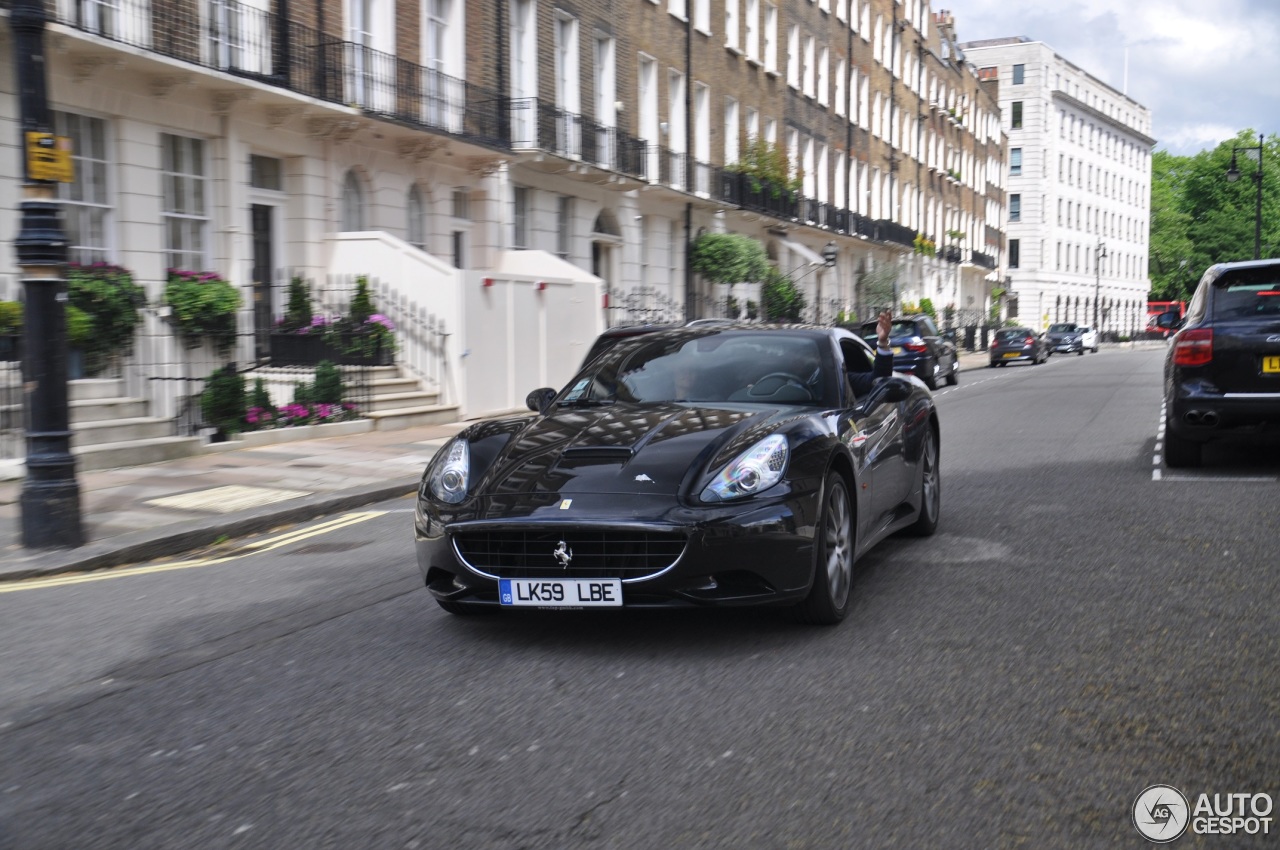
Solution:
<svg viewBox="0 0 1280 850"><path fill-rule="evenodd" d="M849 612L854 584L854 509L844 476L828 472L813 548L813 586L792 614L797 622L835 626Z"/></svg>

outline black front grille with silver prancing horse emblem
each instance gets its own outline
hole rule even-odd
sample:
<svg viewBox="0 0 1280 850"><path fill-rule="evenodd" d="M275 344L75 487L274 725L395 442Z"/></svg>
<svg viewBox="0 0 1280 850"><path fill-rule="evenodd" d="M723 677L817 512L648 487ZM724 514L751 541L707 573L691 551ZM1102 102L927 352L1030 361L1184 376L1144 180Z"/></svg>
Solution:
<svg viewBox="0 0 1280 850"><path fill-rule="evenodd" d="M563 541L568 565L556 557ZM681 533L608 529L466 531L453 535L462 561L499 579L643 579L673 565L685 550Z"/></svg>

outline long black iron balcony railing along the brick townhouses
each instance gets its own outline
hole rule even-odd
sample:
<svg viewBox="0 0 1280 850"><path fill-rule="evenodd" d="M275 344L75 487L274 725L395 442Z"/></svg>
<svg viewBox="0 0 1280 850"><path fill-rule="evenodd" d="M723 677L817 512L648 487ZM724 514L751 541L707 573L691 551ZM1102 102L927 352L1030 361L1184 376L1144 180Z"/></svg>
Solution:
<svg viewBox="0 0 1280 850"><path fill-rule="evenodd" d="M10 3L0 0L0 8ZM837 233L906 247L915 238L914 230L895 221L870 221L536 97L512 99L237 0L45 0L45 6L51 20L82 32L486 147L552 151Z"/></svg>

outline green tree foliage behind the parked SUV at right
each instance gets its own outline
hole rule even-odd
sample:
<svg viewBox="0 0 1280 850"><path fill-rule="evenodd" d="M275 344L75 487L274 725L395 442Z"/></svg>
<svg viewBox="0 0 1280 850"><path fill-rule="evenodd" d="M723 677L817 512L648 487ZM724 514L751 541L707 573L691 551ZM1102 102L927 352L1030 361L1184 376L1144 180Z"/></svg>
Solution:
<svg viewBox="0 0 1280 850"><path fill-rule="evenodd" d="M1253 259L1257 209L1257 151L1238 150L1240 178L1226 172L1233 148L1258 146L1258 134L1240 131L1194 156L1156 151L1151 159L1151 297L1184 301L1204 269L1215 262ZM1262 256L1280 255L1280 138L1263 141Z"/></svg>

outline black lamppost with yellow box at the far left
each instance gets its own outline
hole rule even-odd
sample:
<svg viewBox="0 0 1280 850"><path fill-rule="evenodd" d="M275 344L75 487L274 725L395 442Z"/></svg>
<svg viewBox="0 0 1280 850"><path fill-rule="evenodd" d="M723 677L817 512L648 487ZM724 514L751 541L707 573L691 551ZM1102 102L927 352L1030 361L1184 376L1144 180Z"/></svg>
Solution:
<svg viewBox="0 0 1280 850"><path fill-rule="evenodd" d="M13 0L9 27L18 72L22 214L14 253L22 269L24 346L22 379L27 408L27 476L23 479L22 543L74 548L83 543L79 485L72 456L67 403L67 238L55 179L44 166L59 160L50 134L45 84L45 6ZM61 159L69 157L64 152ZM38 173L33 173L37 172Z"/></svg>

